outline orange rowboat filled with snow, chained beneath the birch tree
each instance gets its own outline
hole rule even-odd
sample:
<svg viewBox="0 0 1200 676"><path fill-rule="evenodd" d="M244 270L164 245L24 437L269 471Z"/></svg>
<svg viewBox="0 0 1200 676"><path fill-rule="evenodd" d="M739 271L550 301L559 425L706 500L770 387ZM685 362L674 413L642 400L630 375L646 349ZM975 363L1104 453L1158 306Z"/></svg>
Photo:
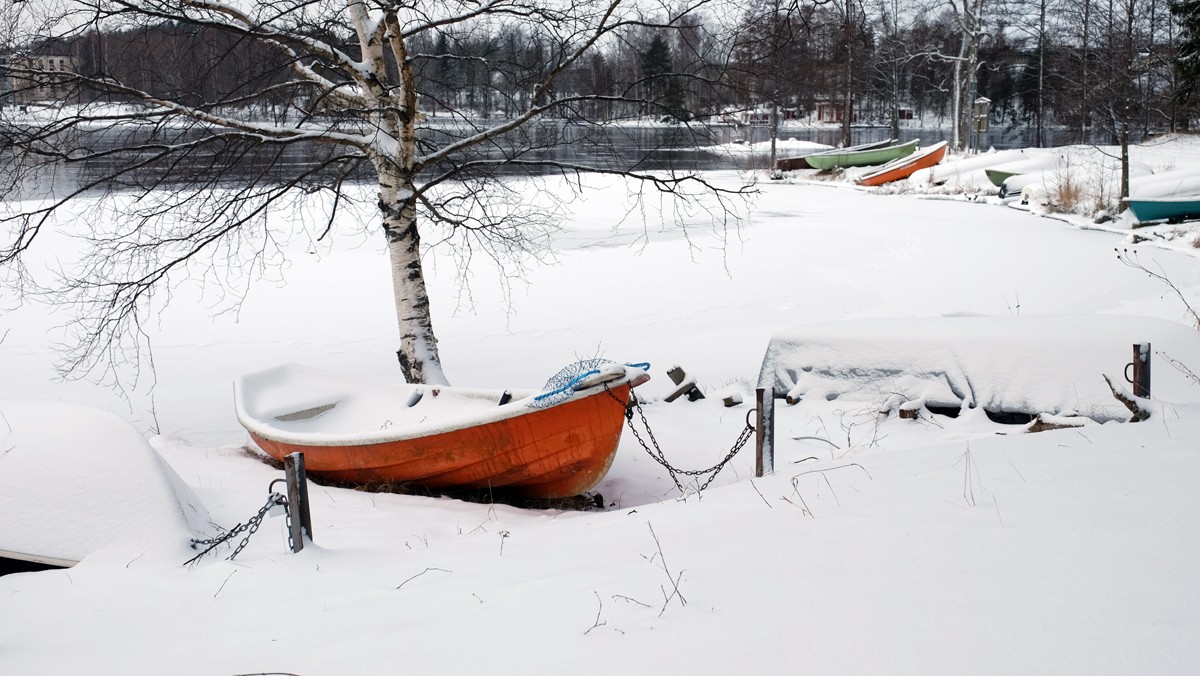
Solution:
<svg viewBox="0 0 1200 676"><path fill-rule="evenodd" d="M352 483L580 495L608 472L644 365L588 360L541 391L352 378L288 364L238 379L238 419L275 459Z"/></svg>

